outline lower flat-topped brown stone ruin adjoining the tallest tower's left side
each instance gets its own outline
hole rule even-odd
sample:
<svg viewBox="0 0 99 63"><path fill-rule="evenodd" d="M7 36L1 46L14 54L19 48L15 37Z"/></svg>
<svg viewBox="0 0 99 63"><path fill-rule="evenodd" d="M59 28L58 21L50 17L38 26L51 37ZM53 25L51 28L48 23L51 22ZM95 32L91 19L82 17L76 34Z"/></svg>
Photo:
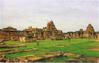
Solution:
<svg viewBox="0 0 99 63"><path fill-rule="evenodd" d="M25 34L25 37L27 37L27 39L32 39L32 40L43 39L43 29L29 27L28 29L25 29L24 31L28 32Z"/></svg>

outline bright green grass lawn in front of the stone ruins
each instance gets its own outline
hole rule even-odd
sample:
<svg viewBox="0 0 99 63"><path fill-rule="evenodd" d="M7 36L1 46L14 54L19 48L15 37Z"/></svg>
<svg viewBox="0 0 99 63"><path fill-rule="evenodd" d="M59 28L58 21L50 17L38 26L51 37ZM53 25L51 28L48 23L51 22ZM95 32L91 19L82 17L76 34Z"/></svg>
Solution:
<svg viewBox="0 0 99 63"><path fill-rule="evenodd" d="M99 45L99 42L97 42L94 39L72 39L69 40L40 40L39 46L37 45L37 42L28 42L28 43L22 43L18 41L8 41L6 42L6 45L9 46L16 46L16 45L25 45L26 47L20 47L20 48L10 48L10 49L18 49L18 50L31 50L33 48L37 48L36 51L31 52L18 52L14 54L6 54L6 58L12 59L22 56L28 56L28 55L35 55L35 56L43 56L47 52L70 52L80 55L85 55L87 57L99 57L99 51L92 51L90 48L96 47ZM97 46L99 48L99 46ZM0 49L0 50L6 50L6 49Z"/></svg>

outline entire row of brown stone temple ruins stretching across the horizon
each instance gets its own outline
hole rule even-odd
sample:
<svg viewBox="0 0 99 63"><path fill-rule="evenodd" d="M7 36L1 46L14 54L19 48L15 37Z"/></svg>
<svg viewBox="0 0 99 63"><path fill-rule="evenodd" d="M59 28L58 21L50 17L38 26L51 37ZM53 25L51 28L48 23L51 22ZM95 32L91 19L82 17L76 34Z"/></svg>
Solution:
<svg viewBox="0 0 99 63"><path fill-rule="evenodd" d="M13 27L0 29L0 42L8 40L30 42L35 40L61 40L66 38L99 39L99 33L95 32L91 24L87 26L86 30L80 29L79 31L64 33L55 27L53 21L49 21L47 26L43 28L33 28L30 26L22 31Z"/></svg>

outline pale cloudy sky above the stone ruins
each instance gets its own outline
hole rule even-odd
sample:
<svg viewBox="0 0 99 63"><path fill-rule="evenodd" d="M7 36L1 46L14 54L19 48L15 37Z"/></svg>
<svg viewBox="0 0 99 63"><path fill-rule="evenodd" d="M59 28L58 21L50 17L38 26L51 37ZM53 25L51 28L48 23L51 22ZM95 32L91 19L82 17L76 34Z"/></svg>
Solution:
<svg viewBox="0 0 99 63"><path fill-rule="evenodd" d="M50 20L63 32L88 24L99 31L99 0L0 0L0 28L43 28Z"/></svg>

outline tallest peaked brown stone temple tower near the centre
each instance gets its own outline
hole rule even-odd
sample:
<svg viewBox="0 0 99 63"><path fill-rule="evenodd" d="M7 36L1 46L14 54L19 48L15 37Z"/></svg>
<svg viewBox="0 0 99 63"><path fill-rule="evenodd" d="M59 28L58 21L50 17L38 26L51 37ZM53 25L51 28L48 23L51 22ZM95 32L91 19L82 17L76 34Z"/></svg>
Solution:
<svg viewBox="0 0 99 63"><path fill-rule="evenodd" d="M43 28L44 39L63 39L63 32L61 30L57 30L53 21L50 21L47 24L47 27Z"/></svg>

